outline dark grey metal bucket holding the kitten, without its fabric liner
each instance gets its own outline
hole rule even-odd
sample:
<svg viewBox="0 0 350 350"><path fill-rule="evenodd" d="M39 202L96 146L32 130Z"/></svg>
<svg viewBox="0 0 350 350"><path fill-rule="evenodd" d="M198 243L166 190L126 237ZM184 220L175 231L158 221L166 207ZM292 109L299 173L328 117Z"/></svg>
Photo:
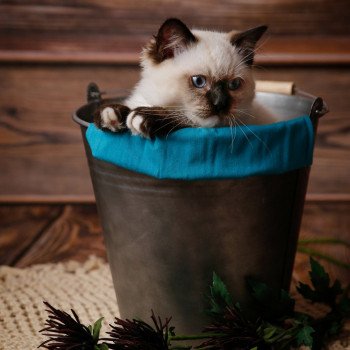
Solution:
<svg viewBox="0 0 350 350"><path fill-rule="evenodd" d="M310 115L315 133L326 112L320 98L306 94L257 98L286 119ZM82 106L73 119L81 126L121 317L149 320L152 308L172 316L180 332L199 331L213 271L243 306L250 302L245 276L289 288L309 168L197 181L131 172L91 155L85 132L99 103Z"/></svg>

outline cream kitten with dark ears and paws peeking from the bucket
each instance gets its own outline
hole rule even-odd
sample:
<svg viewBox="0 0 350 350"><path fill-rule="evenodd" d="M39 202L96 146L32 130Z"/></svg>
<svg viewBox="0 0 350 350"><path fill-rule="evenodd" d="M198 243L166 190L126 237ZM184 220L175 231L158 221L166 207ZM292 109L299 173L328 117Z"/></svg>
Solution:
<svg viewBox="0 0 350 350"><path fill-rule="evenodd" d="M142 52L141 80L132 94L124 105L100 106L96 125L152 137L186 126L273 122L253 102L254 51L266 29L191 31L178 19L166 20Z"/></svg>

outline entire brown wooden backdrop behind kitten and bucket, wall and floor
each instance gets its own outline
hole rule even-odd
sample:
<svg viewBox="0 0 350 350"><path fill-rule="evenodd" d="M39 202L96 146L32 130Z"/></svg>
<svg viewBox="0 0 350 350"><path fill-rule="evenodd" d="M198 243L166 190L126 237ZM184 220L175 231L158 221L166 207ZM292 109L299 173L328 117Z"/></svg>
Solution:
<svg viewBox="0 0 350 350"><path fill-rule="evenodd" d="M319 125L302 236L350 238L348 0L2 0L2 263L83 259L94 244L104 254L95 207L67 204L94 202L71 115L85 103L90 81L109 95L128 94L139 79L142 45L167 17L225 31L269 25L256 57L257 78L295 81L331 110ZM341 247L329 251L349 261ZM305 274L303 256L296 268Z"/></svg>

